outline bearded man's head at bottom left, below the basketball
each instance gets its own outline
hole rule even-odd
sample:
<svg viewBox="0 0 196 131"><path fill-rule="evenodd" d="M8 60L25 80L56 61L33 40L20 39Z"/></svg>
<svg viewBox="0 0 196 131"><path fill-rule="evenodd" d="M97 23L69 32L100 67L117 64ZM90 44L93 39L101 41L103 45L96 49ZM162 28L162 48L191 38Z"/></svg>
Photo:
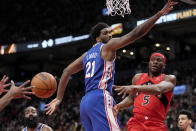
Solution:
<svg viewBox="0 0 196 131"><path fill-rule="evenodd" d="M36 128L38 125L38 112L33 106L28 106L24 110L24 124L29 128Z"/></svg>

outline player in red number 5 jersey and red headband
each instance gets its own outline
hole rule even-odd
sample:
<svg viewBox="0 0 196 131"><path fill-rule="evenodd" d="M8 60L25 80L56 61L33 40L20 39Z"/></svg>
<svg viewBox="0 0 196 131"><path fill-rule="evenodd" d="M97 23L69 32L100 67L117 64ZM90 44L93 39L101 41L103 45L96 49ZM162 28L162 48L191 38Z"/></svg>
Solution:
<svg viewBox="0 0 196 131"><path fill-rule="evenodd" d="M136 74L132 85L114 86L118 95L129 94L114 107L115 115L119 109L134 104L134 117L128 122L128 131L167 131L164 125L172 92L176 85L174 75L163 73L166 58L161 53L153 53L149 61L149 72Z"/></svg>

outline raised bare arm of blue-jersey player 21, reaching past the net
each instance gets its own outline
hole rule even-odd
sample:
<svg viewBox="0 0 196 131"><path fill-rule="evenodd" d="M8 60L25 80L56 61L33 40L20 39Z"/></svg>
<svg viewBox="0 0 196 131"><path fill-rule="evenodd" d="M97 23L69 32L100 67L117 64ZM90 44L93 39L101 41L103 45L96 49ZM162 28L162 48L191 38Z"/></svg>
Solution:
<svg viewBox="0 0 196 131"><path fill-rule="evenodd" d="M148 33L151 28L154 26L155 22L162 16L167 14L173 9L173 6L176 5L177 2L173 2L172 0L168 0L168 3L162 8L161 11L157 12L151 18L149 18L143 24L137 26L128 34L120 37L111 39L108 44L105 44L103 50L106 51L116 51L122 47L127 46L128 44L133 43L135 40L141 38L146 33Z"/></svg>

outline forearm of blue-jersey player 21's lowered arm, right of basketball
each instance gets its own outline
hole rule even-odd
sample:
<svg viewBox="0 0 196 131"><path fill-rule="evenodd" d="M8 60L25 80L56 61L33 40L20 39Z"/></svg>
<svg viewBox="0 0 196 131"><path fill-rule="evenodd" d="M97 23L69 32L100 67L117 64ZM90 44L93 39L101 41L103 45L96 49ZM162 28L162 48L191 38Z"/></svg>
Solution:
<svg viewBox="0 0 196 131"><path fill-rule="evenodd" d="M62 101L65 89L67 87L67 84L69 82L69 77L70 74L66 71L66 69L63 71L63 74L61 76L59 86L58 86L58 91L57 91L57 99Z"/></svg>

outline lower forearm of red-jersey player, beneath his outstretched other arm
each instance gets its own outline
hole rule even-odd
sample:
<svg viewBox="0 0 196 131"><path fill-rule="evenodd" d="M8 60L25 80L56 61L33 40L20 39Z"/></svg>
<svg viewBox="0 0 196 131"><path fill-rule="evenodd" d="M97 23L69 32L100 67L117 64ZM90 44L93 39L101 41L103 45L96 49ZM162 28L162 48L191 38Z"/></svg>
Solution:
<svg viewBox="0 0 196 131"><path fill-rule="evenodd" d="M134 100L132 99L131 96L127 96L123 101L118 103L119 109L128 109L131 105L133 105Z"/></svg>

